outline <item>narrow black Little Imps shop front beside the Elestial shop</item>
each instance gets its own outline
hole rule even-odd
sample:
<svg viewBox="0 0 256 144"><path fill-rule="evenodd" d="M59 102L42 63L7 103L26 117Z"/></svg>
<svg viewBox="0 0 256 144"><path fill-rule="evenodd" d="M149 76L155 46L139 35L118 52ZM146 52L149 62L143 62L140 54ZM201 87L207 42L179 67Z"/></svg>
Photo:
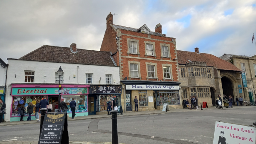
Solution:
<svg viewBox="0 0 256 144"><path fill-rule="evenodd" d="M116 101L116 106L121 106L122 85L90 85L88 95L89 115L108 114L107 103Z"/></svg>

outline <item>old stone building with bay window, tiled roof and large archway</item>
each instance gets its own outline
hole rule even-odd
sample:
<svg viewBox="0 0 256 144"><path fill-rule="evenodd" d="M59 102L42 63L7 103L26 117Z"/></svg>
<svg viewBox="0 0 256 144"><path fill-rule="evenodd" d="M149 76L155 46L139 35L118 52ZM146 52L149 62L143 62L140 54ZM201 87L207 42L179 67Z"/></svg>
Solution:
<svg viewBox="0 0 256 144"><path fill-rule="evenodd" d="M208 107L215 106L218 95L242 96L241 70L231 63L211 54L177 50L179 80L182 99L198 97L198 104L207 102Z"/></svg>

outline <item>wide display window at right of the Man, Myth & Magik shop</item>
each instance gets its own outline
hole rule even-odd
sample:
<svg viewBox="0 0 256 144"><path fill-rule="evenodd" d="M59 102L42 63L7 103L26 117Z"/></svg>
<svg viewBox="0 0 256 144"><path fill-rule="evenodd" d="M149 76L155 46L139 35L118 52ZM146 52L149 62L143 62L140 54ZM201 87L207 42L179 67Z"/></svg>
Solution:
<svg viewBox="0 0 256 144"><path fill-rule="evenodd" d="M157 91L157 105L163 104L175 105L180 104L180 96L178 91Z"/></svg>

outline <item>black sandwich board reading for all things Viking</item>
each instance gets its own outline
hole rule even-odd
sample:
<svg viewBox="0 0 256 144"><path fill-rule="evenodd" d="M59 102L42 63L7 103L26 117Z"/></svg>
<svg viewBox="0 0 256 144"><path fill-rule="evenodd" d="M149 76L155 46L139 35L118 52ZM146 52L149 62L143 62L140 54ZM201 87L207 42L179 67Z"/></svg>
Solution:
<svg viewBox="0 0 256 144"><path fill-rule="evenodd" d="M69 144L66 112L45 114L38 144Z"/></svg>

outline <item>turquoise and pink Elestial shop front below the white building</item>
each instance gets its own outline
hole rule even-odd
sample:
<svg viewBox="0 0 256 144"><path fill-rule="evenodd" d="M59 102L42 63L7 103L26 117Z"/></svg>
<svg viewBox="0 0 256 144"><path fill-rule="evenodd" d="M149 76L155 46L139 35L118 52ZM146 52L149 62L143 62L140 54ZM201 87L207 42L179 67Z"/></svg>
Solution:
<svg viewBox="0 0 256 144"><path fill-rule="evenodd" d="M55 111L55 108L58 107L58 93L55 93L55 90L59 89L59 85L53 84L37 84L37 85L21 85L21 84L12 84L12 104L11 104L11 113L10 121L20 121L19 108L26 107L30 102L36 104L37 101L41 101L44 96L47 97L49 104L52 104L52 112ZM87 95L89 94L89 85L61 85L61 89L64 90L64 93L61 93L61 98L64 98L68 110L67 113L69 116L72 115L70 110L70 101L74 98L76 101L76 116L85 116L88 115L88 100ZM56 106L56 107L55 107ZM23 120L26 121L28 116L27 109L25 110ZM6 114L7 115L7 114ZM31 116L32 120L35 120L35 107L34 112Z"/></svg>

